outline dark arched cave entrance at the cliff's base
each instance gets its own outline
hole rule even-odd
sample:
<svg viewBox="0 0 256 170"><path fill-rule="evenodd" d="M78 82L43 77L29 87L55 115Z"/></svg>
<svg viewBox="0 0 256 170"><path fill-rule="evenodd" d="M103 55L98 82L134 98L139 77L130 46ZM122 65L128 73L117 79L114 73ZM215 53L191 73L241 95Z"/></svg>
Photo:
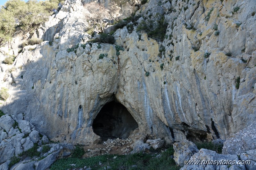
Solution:
<svg viewBox="0 0 256 170"><path fill-rule="evenodd" d="M115 101L105 104L93 121L93 131L103 141L109 138L127 138L136 128L138 124L131 113Z"/></svg>

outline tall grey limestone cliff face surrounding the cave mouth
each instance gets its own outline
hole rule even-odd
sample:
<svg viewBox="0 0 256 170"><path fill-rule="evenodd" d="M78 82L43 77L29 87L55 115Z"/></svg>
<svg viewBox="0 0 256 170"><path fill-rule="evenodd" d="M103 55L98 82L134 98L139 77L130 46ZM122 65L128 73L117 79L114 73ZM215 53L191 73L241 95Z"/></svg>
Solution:
<svg viewBox="0 0 256 170"><path fill-rule="evenodd" d="M134 117L140 138L225 139L256 118L254 11L254 0L152 0L136 14L164 15L166 38L157 42L136 26L132 32L123 27L114 33L115 44L124 47L117 56L112 44L81 46L91 38L84 27L90 13L81 1L67 1L33 35L47 41L20 54L19 37L11 51L0 48L1 60L5 53L17 55L12 66L0 64L1 86L11 95L0 109L24 113L40 133L61 142L99 141L93 120L112 100ZM76 44L76 52L67 52Z"/></svg>

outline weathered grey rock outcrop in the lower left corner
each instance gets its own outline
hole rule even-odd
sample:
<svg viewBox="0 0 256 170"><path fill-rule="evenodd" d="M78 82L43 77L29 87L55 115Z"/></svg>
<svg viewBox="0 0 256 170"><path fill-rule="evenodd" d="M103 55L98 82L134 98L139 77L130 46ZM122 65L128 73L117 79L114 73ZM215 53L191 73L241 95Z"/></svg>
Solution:
<svg viewBox="0 0 256 170"><path fill-rule="evenodd" d="M7 120L6 124L4 124L4 122L3 124L0 124L0 169L2 170L8 170L10 160L13 157L21 158L21 160L13 165L11 169L47 169L57 158L69 156L71 151L74 150L73 144L69 143L47 144L49 143L49 139L45 135L41 138L39 132L35 130L34 126L26 120L21 121L15 116L8 115L4 115L0 119ZM19 122L19 125L15 128L13 128L15 122L14 120ZM11 123L13 124L11 125ZM22 128L20 128L20 126ZM6 132L3 131L4 129L7 129ZM22 129L26 135L22 133ZM33 130L31 131L30 129ZM37 158L22 157L23 153L37 145L39 145L37 149L39 156ZM43 147L45 146L49 147L49 151L43 152ZM40 158L43 159L40 160Z"/></svg>

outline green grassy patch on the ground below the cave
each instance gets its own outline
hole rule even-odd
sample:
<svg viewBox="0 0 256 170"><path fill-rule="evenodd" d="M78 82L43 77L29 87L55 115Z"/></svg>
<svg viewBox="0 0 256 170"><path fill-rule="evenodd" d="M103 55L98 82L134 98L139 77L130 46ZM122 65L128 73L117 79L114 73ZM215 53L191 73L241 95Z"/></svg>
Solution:
<svg viewBox="0 0 256 170"><path fill-rule="evenodd" d="M111 169L169 169L178 170L180 166L175 164L175 161L170 156L173 155L172 147L161 153L160 158L155 158L156 155L137 153L129 155L100 155L92 158L63 158L57 160L51 167L51 170L57 169L73 169L90 166L92 169L104 169L110 166ZM114 156L117 158L113 159ZM99 162L102 165L99 165ZM70 166L76 164L76 166ZM132 167L136 166L136 167Z"/></svg>

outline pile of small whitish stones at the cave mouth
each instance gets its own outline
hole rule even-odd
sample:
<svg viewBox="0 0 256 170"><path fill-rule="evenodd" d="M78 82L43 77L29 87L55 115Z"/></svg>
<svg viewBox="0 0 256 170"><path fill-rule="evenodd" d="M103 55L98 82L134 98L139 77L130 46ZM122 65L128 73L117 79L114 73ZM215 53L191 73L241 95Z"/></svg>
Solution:
<svg viewBox="0 0 256 170"><path fill-rule="evenodd" d="M107 141L104 141L103 142L103 145L106 146L106 152L108 153L109 151L111 151L111 148L113 148L114 146L122 146L122 145L125 145L125 144L131 144L133 143L133 140L128 138L128 139L119 139L119 138L116 138L116 139L108 139ZM130 149L129 146L126 146L124 148L121 149L121 151L123 152L129 152Z"/></svg>

